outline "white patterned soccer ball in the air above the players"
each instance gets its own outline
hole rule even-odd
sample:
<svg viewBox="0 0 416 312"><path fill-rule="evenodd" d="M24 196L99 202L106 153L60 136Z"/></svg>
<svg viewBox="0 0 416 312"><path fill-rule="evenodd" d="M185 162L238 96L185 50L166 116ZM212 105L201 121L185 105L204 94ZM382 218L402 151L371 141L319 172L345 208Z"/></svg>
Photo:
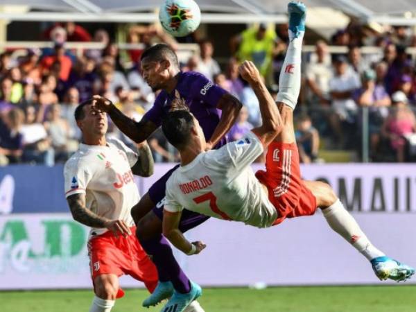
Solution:
<svg viewBox="0 0 416 312"><path fill-rule="evenodd" d="M164 0L160 6L160 24L173 37L184 37L193 33L200 20L200 8L193 0Z"/></svg>

